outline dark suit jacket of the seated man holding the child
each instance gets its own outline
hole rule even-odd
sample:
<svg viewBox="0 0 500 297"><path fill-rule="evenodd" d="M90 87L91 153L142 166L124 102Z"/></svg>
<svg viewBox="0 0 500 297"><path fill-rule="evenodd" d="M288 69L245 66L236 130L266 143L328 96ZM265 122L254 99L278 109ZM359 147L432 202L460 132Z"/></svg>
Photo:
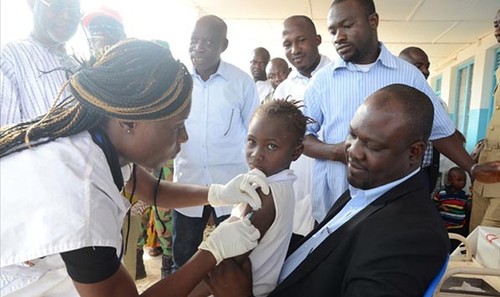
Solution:
<svg viewBox="0 0 500 297"><path fill-rule="evenodd" d="M349 199L346 191L305 240ZM418 173L330 234L269 296L421 297L448 251L448 234Z"/></svg>

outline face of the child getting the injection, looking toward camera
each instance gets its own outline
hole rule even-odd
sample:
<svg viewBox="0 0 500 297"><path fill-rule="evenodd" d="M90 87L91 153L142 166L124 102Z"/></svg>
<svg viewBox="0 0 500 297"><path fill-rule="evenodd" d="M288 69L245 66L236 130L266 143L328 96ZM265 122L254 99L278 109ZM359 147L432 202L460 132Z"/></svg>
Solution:
<svg viewBox="0 0 500 297"><path fill-rule="evenodd" d="M257 168L267 176L290 167L303 150L297 136L286 129L278 117L254 116L250 121L246 158L250 169Z"/></svg>

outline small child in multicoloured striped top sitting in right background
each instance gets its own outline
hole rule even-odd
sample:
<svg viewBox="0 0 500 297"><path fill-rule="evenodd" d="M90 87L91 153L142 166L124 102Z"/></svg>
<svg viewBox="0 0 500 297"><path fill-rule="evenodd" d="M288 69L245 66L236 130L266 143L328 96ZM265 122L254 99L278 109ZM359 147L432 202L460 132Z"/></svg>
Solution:
<svg viewBox="0 0 500 297"><path fill-rule="evenodd" d="M452 167L448 171L448 182L434 196L441 217L448 232L457 233L464 237L469 234L470 195L463 190L467 176L460 167ZM458 246L458 242L451 242L451 250Z"/></svg>

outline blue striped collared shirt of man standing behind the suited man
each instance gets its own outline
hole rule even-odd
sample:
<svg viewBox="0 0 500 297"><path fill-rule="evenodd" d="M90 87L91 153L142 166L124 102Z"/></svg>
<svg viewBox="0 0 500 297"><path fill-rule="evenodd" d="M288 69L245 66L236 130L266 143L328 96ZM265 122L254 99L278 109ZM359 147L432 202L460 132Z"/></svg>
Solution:
<svg viewBox="0 0 500 297"><path fill-rule="evenodd" d="M422 73L413 65L391 54L380 44L380 55L368 72L337 58L312 77L304 94L304 113L316 123L307 134L325 143L341 143L349 133L349 123L357 108L378 89L393 83L406 84L429 96L434 105L431 139L450 136L453 122L440 104ZM390 164L387 164L390 166ZM313 217L321 222L333 203L347 189L347 167L336 161L315 159L313 165Z"/></svg>

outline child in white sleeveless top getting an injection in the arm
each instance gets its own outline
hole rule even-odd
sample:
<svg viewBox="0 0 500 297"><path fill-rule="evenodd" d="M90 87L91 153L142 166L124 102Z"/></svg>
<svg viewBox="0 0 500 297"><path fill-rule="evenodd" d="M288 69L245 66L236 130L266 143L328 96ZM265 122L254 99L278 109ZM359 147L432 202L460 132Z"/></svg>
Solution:
<svg viewBox="0 0 500 297"><path fill-rule="evenodd" d="M293 100L272 100L260 105L250 120L246 159L250 169L258 169L267 176L270 192L259 191L262 208L251 211L247 204L233 207L231 219L251 216L259 229L259 245L249 254L227 261L242 263L249 257L252 263L253 295L267 296L277 285L292 235L296 179L290 163L302 154L306 125L312 120L302 114ZM208 296L204 283L190 296Z"/></svg>

